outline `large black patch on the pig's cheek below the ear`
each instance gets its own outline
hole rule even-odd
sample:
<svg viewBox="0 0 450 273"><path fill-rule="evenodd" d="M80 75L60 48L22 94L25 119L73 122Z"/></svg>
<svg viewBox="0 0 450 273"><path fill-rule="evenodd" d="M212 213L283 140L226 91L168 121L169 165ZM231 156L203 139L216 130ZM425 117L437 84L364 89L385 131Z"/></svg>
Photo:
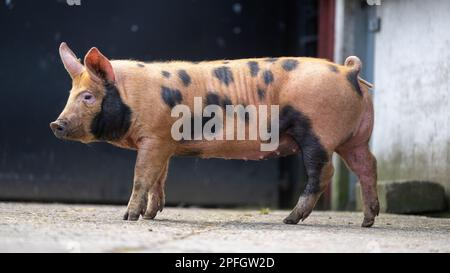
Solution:
<svg viewBox="0 0 450 273"><path fill-rule="evenodd" d="M122 101L115 85L106 84L105 91L101 110L92 120L90 130L98 140L119 140L130 128L131 109Z"/></svg>

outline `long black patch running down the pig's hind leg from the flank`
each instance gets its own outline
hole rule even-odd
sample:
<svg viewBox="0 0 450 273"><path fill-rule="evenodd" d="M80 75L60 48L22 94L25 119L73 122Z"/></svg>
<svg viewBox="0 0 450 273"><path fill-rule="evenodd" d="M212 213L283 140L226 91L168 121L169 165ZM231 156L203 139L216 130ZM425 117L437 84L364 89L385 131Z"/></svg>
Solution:
<svg viewBox="0 0 450 273"><path fill-rule="evenodd" d="M284 106L280 113L280 134L288 134L301 147L308 182L304 194L320 192L320 175L328 163L328 153L314 133L311 120L292 106Z"/></svg>

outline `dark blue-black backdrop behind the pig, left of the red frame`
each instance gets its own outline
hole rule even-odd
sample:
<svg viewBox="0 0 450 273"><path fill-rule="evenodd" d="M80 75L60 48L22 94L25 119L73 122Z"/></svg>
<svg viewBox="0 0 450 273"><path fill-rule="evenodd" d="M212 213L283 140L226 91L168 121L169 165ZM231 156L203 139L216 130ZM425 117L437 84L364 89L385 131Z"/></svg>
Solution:
<svg viewBox="0 0 450 273"><path fill-rule="evenodd" d="M123 203L135 153L56 139L49 129L71 80L62 41L83 58L205 60L316 56L317 3L305 1L2 1L0 199ZM290 206L302 188L297 157L264 162L174 158L167 203Z"/></svg>

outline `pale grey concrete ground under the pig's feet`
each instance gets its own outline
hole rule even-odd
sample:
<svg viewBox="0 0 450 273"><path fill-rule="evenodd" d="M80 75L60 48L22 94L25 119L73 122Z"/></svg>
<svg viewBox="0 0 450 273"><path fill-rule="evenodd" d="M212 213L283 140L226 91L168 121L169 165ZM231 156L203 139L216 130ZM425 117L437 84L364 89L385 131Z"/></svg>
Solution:
<svg viewBox="0 0 450 273"><path fill-rule="evenodd" d="M165 208L122 221L124 206L0 203L1 252L450 252L450 219L314 211ZM268 212L268 213L267 213ZM267 214L265 214L267 213Z"/></svg>

